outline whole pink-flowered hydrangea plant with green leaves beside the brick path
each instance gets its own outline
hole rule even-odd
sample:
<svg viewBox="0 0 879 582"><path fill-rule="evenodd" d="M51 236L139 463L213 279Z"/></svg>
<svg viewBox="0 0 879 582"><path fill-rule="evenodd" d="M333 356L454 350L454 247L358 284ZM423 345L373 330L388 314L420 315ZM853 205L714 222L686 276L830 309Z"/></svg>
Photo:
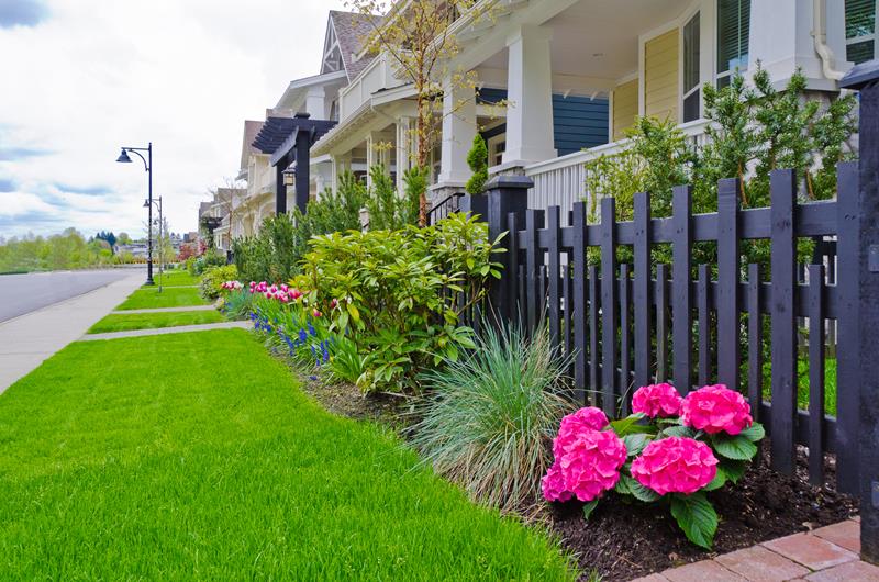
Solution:
<svg viewBox="0 0 879 582"><path fill-rule="evenodd" d="M587 518L611 492L667 505L687 538L710 549L717 514L706 493L742 478L763 426L742 394L722 384L685 398L671 384L642 387L632 410L615 422L591 406L565 416L544 497L586 502Z"/></svg>

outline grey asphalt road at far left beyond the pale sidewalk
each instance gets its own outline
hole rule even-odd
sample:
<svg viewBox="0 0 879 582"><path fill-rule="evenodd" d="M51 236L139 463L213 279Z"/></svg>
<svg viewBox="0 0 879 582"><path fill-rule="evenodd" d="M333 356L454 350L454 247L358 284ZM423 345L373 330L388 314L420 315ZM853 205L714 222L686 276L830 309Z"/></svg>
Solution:
<svg viewBox="0 0 879 582"><path fill-rule="evenodd" d="M88 293L132 273L132 269L53 271L0 276L0 322ZM146 272L144 272L146 278Z"/></svg>

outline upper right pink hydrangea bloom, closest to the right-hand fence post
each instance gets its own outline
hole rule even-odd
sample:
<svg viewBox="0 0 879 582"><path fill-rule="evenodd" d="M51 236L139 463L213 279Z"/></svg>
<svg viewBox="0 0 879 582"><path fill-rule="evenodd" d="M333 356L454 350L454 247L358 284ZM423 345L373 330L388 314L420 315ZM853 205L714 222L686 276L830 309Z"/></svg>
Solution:
<svg viewBox="0 0 879 582"><path fill-rule="evenodd" d="M687 394L680 406L681 422L710 435L737 435L754 424L750 405L723 384L706 385Z"/></svg>

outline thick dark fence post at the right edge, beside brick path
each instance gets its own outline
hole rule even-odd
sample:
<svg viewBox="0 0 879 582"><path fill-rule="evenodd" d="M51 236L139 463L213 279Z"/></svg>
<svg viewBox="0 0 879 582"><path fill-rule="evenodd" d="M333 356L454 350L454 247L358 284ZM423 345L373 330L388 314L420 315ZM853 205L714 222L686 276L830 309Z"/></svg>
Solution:
<svg viewBox="0 0 879 582"><path fill-rule="evenodd" d="M879 358L876 357L879 345L879 60L856 66L839 85L860 90L857 198L860 555L867 561L879 563Z"/></svg>

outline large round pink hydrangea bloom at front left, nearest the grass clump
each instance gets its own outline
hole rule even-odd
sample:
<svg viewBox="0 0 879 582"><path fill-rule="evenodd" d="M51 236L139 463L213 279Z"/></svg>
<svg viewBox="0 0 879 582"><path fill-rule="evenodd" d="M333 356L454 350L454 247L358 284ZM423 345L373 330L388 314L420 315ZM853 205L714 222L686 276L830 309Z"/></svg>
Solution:
<svg viewBox="0 0 879 582"><path fill-rule="evenodd" d="M561 444L556 461L565 491L580 501L592 501L613 489L625 463L626 448L613 430L582 430Z"/></svg>

